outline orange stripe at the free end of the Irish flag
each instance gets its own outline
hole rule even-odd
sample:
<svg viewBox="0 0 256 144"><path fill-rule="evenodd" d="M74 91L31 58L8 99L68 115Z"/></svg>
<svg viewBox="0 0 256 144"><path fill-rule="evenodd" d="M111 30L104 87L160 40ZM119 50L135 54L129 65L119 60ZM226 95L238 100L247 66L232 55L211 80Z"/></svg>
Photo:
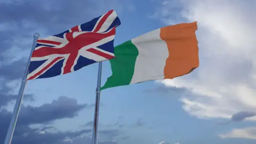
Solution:
<svg viewBox="0 0 256 144"><path fill-rule="evenodd" d="M161 28L160 37L166 42L169 50L164 78L186 75L199 66L196 30L197 22Z"/></svg>

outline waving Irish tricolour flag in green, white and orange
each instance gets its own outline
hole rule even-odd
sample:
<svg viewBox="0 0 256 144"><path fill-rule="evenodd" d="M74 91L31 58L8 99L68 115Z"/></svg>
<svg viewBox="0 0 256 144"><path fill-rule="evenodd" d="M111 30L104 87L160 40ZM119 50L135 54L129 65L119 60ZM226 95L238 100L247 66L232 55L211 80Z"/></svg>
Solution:
<svg viewBox="0 0 256 144"><path fill-rule="evenodd" d="M101 90L186 75L199 66L197 23L159 28L114 49L112 76Z"/></svg>

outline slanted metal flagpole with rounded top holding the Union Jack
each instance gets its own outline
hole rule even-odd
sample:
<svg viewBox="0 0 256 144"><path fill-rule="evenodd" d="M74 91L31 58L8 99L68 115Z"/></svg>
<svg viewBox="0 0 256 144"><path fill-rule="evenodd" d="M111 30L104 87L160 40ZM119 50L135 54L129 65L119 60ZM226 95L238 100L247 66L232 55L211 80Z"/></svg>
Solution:
<svg viewBox="0 0 256 144"><path fill-rule="evenodd" d="M23 93L24 93L24 90L25 90L26 82L27 82L27 75L28 75L28 68L29 68L30 58L31 58L31 55L32 55L33 51L35 50L36 41L39 37L40 37L40 35L38 33L34 34L33 46L32 46L32 49L31 49L31 52L30 52L30 55L29 55L29 58L28 58L28 63L27 63L25 73L22 77L19 94L18 94L16 103L15 103L15 106L14 106L11 122L9 124L9 129L7 131L7 134L6 134L4 144L11 144L11 142L12 142L12 136L13 136L15 125L16 125L17 118L18 118L18 115L19 115L21 101L22 101L22 98L23 98Z"/></svg>

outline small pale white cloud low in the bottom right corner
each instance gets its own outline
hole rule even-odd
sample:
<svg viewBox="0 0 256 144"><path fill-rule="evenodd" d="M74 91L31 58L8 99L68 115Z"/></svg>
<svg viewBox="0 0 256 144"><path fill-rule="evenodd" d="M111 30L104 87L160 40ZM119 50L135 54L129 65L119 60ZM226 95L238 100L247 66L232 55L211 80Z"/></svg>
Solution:
<svg viewBox="0 0 256 144"><path fill-rule="evenodd" d="M256 139L256 127L247 127L245 129L234 129L229 133L220 134L220 138L243 138L243 139Z"/></svg>

